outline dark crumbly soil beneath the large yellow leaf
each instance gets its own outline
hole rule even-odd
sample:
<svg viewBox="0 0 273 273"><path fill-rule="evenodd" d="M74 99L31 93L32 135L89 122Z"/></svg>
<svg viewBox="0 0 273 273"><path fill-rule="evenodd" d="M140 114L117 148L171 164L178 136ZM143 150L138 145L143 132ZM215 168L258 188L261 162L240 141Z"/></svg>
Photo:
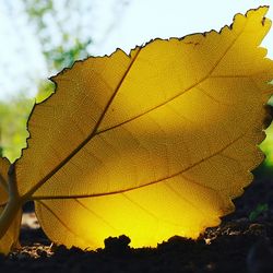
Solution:
<svg viewBox="0 0 273 273"><path fill-rule="evenodd" d="M272 179L273 175L256 179L235 201L236 212L219 227L207 228L197 241L174 237L156 249L131 249L129 239L121 236L107 239L105 249L85 252L50 246L40 228L25 227L21 234L23 249L0 256L0 272L273 273ZM259 204L265 204L260 214Z"/></svg>

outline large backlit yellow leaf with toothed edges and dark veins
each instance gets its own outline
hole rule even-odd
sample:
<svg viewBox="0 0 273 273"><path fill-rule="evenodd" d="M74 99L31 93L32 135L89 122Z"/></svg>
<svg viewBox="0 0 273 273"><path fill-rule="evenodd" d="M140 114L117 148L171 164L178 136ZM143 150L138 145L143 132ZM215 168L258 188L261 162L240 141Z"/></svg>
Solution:
<svg viewBox="0 0 273 273"><path fill-rule="evenodd" d="M36 201L51 240L97 248L124 234L134 247L155 246L197 238L234 210L263 159L266 10L54 78L57 92L33 110L16 162L19 192Z"/></svg>

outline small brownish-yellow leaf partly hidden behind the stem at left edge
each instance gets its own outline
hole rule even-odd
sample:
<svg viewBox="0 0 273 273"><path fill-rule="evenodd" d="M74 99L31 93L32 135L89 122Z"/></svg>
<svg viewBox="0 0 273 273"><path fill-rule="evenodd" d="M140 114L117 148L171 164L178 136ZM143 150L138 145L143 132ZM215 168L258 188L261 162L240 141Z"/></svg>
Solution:
<svg viewBox="0 0 273 273"><path fill-rule="evenodd" d="M7 158L0 157L0 218L8 202L8 170L10 163ZM10 228L0 239L0 253L8 254L12 248L19 247L19 232L22 212L14 215Z"/></svg>

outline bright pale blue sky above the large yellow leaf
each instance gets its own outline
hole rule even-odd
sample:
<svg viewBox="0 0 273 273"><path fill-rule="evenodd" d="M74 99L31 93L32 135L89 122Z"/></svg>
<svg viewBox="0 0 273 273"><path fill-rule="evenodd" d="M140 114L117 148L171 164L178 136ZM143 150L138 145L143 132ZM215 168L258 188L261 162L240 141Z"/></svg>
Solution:
<svg viewBox="0 0 273 273"><path fill-rule="evenodd" d="M91 51L93 55L105 55L117 47L128 52L156 37L182 37L197 32L219 31L232 23L236 13L269 5L272 0L128 0L126 9L116 13L115 0L91 1L96 7L96 12L91 13L90 19L85 17L86 22L90 20L93 23L94 44ZM50 76L34 28L27 25L20 8L22 1L12 2L16 4L12 16L11 11L0 2L0 99L15 96L22 90L25 95L34 96L38 80ZM268 17L273 20L273 4ZM273 58L273 31L263 46L269 49L269 57Z"/></svg>

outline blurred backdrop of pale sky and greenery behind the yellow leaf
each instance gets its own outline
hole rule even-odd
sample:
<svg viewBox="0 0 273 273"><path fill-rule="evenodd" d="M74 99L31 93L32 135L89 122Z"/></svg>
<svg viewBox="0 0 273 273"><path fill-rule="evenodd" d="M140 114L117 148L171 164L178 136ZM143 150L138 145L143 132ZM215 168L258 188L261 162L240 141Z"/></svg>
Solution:
<svg viewBox="0 0 273 273"><path fill-rule="evenodd" d="M259 0L0 0L0 154L11 162L26 146L34 103L54 92L47 80L75 60L129 52L152 38L219 31ZM273 19L273 8L268 17ZM273 32L263 46L273 57ZM273 129L261 145L273 166Z"/></svg>

